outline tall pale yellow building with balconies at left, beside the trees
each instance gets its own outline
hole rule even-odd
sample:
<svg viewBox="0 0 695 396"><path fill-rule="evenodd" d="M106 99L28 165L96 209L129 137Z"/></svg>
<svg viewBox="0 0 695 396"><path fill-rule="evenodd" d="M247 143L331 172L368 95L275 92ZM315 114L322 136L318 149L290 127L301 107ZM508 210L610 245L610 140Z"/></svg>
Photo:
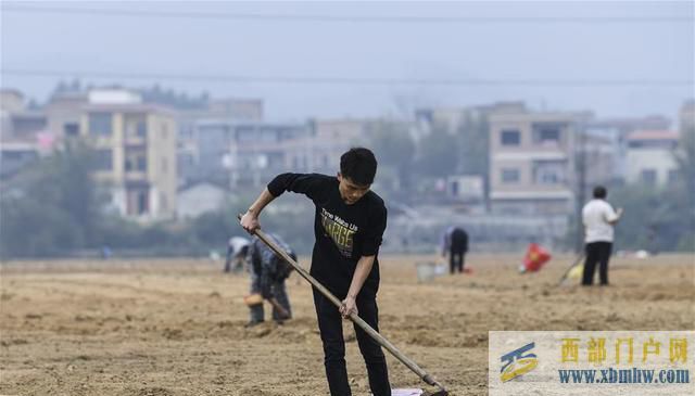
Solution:
<svg viewBox="0 0 695 396"><path fill-rule="evenodd" d="M149 221L176 213L176 122L127 93L101 92L84 105L79 135L97 150L96 178L124 216Z"/></svg>

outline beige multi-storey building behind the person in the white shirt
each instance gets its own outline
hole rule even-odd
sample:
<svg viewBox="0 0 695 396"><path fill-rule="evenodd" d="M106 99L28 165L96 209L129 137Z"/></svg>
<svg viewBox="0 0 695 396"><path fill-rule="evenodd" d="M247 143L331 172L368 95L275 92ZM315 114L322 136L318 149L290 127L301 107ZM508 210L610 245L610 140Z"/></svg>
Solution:
<svg viewBox="0 0 695 396"><path fill-rule="evenodd" d="M490 204L495 213L571 213L579 113L490 114Z"/></svg>

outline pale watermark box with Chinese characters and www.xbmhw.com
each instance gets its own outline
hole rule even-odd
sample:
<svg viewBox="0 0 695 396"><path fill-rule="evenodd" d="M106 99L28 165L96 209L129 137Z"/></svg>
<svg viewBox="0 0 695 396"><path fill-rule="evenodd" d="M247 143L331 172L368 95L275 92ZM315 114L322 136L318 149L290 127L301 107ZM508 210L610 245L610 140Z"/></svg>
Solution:
<svg viewBox="0 0 695 396"><path fill-rule="evenodd" d="M693 396L695 331L491 331L490 396Z"/></svg>

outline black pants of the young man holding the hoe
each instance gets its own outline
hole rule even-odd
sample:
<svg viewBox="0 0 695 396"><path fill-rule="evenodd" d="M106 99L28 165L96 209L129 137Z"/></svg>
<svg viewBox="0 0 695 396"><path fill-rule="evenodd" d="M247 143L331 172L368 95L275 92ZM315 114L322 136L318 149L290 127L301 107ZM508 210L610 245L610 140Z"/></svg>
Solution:
<svg viewBox="0 0 695 396"><path fill-rule="evenodd" d="M378 328L378 308L374 298L361 298L357 296L357 311L359 317L374 330ZM320 292L314 290L314 306L318 318L318 329L324 343L324 365L331 396L351 396L345 369L345 341L343 338L342 316L338 308ZM389 384L389 371L387 360L381 346L358 325L355 327L359 352L367 366L369 387L374 396L391 396Z"/></svg>

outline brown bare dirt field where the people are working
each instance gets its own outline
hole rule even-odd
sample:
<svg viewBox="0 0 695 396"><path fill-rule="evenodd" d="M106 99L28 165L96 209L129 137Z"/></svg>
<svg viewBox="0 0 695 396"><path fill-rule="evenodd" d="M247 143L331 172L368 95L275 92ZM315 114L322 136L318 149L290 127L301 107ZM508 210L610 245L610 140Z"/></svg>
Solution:
<svg viewBox="0 0 695 396"><path fill-rule="evenodd" d="M383 257L382 334L454 395L486 395L489 330L695 329L692 255L615 258L612 285L591 289L556 285L570 257L525 276L518 258L473 255L473 274L418 283L415 263L432 257ZM294 320L244 329L249 280L220 269L204 260L4 264L0 394L327 395L307 284L296 274L288 282ZM368 395L354 336L346 360L353 393ZM389 363L394 387L422 387Z"/></svg>

